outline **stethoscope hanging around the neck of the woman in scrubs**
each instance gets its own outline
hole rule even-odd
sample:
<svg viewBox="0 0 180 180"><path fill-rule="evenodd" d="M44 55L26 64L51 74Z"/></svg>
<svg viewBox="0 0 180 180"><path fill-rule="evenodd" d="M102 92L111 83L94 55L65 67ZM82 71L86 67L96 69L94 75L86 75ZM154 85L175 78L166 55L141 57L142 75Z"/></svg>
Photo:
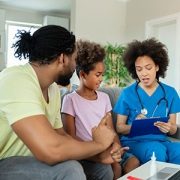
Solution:
<svg viewBox="0 0 180 180"><path fill-rule="evenodd" d="M159 101L157 102L156 107L154 108L154 111L153 111L151 117L154 117L154 114L155 114L159 104L161 103L161 101L165 101L165 103L166 103L166 117L167 117L167 114L168 114L168 100L166 99L166 92L165 92L165 89L162 86L162 84L159 81L157 81L157 83L160 85L160 87L161 87L161 89L163 91L163 97L160 98ZM141 105L141 114L147 115L148 114L148 110L143 106L143 103L142 103L141 98L140 98L139 93L138 93L138 84L139 84L139 82L136 83L135 91L136 91L138 100L139 100L140 105Z"/></svg>

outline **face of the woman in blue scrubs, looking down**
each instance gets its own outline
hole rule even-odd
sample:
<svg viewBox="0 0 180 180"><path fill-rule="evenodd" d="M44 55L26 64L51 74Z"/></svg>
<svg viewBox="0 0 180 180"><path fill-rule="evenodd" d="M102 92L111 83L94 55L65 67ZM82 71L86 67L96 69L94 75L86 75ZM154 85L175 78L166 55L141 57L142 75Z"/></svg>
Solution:
<svg viewBox="0 0 180 180"><path fill-rule="evenodd" d="M149 56L140 56L135 61L136 74L145 87L153 86L156 83L156 73L159 66Z"/></svg>

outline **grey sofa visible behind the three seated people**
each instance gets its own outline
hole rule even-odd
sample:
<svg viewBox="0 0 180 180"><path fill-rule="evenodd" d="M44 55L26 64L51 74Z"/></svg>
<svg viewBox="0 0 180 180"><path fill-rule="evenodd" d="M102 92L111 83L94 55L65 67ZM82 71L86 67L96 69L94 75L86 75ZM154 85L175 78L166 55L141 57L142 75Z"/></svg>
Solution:
<svg viewBox="0 0 180 180"><path fill-rule="evenodd" d="M72 90L75 90L76 88L77 88L77 86L75 88L73 88ZM122 88L120 88L120 87L101 87L101 88L99 88L99 91L102 91L109 96L111 105L112 105L112 107L114 107L114 105L117 101L117 98L119 97L119 95L122 91ZM63 91L61 91L62 100L63 100L64 95L67 93L69 93L69 91L67 89L66 90L63 89ZM113 123L115 126L116 125L116 114L113 112L112 112L112 118L113 118ZM176 134L171 136L170 139L173 141L180 141L180 125L178 125Z"/></svg>

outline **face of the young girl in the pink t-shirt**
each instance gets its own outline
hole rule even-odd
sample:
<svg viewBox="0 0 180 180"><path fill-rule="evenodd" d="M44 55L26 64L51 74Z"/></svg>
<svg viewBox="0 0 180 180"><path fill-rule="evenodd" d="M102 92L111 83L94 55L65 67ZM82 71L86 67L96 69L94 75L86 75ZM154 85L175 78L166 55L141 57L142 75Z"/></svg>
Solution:
<svg viewBox="0 0 180 180"><path fill-rule="evenodd" d="M88 74L83 73L83 84L92 90L97 90L103 81L105 66L103 62L98 62L94 65L94 69Z"/></svg>

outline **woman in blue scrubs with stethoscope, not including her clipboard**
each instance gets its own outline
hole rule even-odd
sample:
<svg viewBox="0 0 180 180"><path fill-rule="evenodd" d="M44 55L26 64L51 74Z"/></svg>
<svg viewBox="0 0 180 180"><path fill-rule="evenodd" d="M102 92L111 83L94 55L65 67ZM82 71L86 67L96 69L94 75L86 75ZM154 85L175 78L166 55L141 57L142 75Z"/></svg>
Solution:
<svg viewBox="0 0 180 180"><path fill-rule="evenodd" d="M168 66L166 47L155 39L133 41L127 47L124 62L136 82L124 89L114 107L118 114L116 129L124 134L122 144L129 146L141 163L149 161L155 152L158 161L180 164L180 143L167 137L177 131L180 99L173 87L159 81ZM164 134L128 137L132 121L146 117L168 117L167 123L154 124Z"/></svg>

